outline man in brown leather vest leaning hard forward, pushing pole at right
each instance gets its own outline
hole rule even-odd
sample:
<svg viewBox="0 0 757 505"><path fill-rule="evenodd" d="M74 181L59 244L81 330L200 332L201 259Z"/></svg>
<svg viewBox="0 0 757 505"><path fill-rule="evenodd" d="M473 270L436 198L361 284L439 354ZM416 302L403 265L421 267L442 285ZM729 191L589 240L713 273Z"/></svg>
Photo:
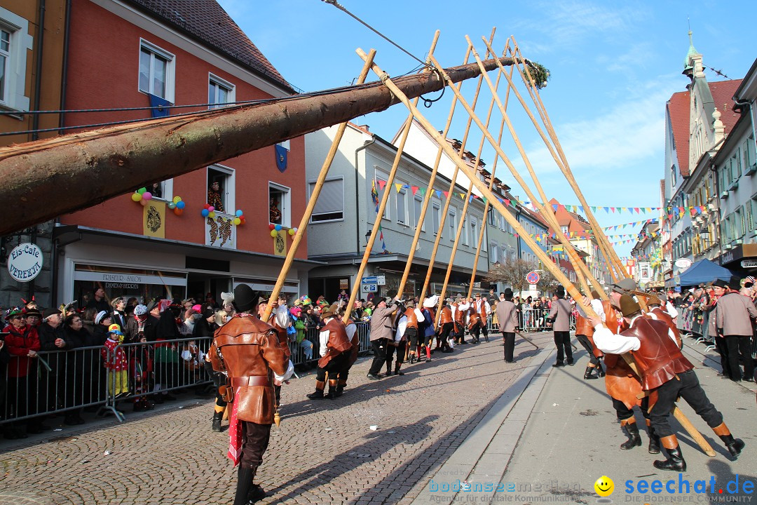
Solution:
<svg viewBox="0 0 757 505"><path fill-rule="evenodd" d="M594 319L594 343L606 353L630 352L640 373L641 387L657 396L650 410L650 420L662 446L668 451L668 459L655 461L655 468L686 471L678 438L670 426L670 415L679 396L707 422L731 455L738 457L744 447L743 441L734 439L725 426L723 415L699 385L693 365L681 354L668 325L643 317L639 304L630 295L621 295L620 308L628 329L620 335L613 335L598 318Z"/></svg>

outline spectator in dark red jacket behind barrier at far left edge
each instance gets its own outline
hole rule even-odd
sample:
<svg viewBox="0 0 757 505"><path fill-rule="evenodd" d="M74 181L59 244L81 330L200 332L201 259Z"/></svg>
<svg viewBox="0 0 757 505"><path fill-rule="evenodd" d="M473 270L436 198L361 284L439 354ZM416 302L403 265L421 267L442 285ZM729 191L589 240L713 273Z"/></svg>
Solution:
<svg viewBox="0 0 757 505"><path fill-rule="evenodd" d="M5 316L8 326L5 326L5 345L8 346L8 393L6 413L8 416L23 417L36 409L30 405L29 399L36 394L36 357L39 351L39 335L33 326L26 324L26 318L20 307L8 310ZM26 438L26 432L39 433L39 419L29 422L14 422L5 430L5 438Z"/></svg>

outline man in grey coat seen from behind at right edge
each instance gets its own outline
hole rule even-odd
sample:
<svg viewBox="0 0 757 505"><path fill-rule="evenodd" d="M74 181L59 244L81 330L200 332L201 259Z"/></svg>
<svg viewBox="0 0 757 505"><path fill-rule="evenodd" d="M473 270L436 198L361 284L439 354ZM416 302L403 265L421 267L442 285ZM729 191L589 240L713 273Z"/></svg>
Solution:
<svg viewBox="0 0 757 505"><path fill-rule="evenodd" d="M752 320L757 319L757 308L751 298L739 293L740 284L737 278L731 278L729 291L718 299L715 307L715 326L718 336L723 335L727 346L728 368L731 380L740 382L741 368L739 354L744 362L744 377L748 382L754 380L755 366L752 360Z"/></svg>

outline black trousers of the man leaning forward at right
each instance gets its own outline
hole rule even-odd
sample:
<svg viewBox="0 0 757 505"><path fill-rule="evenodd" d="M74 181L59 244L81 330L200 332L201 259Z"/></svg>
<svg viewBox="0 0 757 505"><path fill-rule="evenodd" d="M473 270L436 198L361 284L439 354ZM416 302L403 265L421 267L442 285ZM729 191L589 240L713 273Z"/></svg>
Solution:
<svg viewBox="0 0 757 505"><path fill-rule="evenodd" d="M668 437L673 435L670 416L676 398L682 397L710 428L723 424L723 414L709 401L705 390L699 385L699 379L693 370L679 373L674 379L657 388L657 403L650 412L650 422L656 435Z"/></svg>

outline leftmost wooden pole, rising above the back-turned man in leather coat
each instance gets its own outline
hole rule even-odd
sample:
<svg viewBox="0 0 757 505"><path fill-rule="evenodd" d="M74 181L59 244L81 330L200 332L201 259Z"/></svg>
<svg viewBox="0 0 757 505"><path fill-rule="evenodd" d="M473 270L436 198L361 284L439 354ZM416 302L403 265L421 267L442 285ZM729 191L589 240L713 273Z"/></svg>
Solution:
<svg viewBox="0 0 757 505"><path fill-rule="evenodd" d="M375 52L376 51L373 49L369 52L368 61L365 62L363 70L360 70L360 75L357 76L357 84L363 84L366 82L366 77L371 70L370 63L373 61ZM336 130L336 135L332 141L331 148L329 148L329 153L326 154L326 160L323 161L321 171L318 173L318 179L316 179L316 184L313 186L313 193L310 195L310 201L307 202L307 207L305 207L305 211L300 219L300 226L297 228L297 233L292 237L291 246L289 246L289 251L287 252L284 264L282 265L282 270L279 272L279 278L276 279L276 285L273 286L273 291L271 291L271 297L268 300L266 311L263 313L263 321L268 320L273 311L273 304L279 301L279 294L284 286L289 269L291 268L292 263L294 263L294 257L297 254L298 248L300 248L302 238L305 236L307 223L310 222L310 216L313 215L313 209L316 207L316 202L321 194L323 183L326 182L326 176L329 175L329 169L331 168L334 157L339 149L339 143L341 142L342 136L344 136L344 129L346 128L347 122L345 121L344 123L340 123Z"/></svg>

